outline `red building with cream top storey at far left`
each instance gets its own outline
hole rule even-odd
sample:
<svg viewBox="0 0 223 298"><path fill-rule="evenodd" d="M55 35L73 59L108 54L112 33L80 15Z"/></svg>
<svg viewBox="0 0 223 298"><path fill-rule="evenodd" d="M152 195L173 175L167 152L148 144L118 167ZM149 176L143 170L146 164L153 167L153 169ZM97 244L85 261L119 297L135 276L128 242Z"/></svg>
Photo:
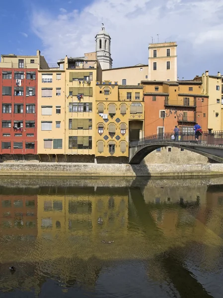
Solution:
<svg viewBox="0 0 223 298"><path fill-rule="evenodd" d="M0 154L26 159L37 154L38 70L48 69L40 51L36 56L1 55Z"/></svg>

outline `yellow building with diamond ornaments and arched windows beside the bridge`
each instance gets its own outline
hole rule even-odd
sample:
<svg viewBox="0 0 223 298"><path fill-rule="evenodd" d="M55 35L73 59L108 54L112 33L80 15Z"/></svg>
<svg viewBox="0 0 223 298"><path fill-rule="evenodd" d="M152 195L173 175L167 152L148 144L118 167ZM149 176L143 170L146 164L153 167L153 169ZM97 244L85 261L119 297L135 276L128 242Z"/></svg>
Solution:
<svg viewBox="0 0 223 298"><path fill-rule="evenodd" d="M128 157L129 141L144 136L143 86L98 82L96 112L96 157Z"/></svg>

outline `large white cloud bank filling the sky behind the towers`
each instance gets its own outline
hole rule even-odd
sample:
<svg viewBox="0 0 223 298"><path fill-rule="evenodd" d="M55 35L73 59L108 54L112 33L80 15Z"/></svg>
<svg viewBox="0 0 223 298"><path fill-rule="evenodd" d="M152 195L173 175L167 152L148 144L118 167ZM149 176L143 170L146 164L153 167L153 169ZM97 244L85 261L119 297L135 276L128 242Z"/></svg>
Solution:
<svg viewBox="0 0 223 298"><path fill-rule="evenodd" d="M94 0L80 11L65 10L57 16L44 7L32 12L32 29L49 62L94 51L103 22L112 38L113 67L148 63L150 36L156 42L159 34L159 42L178 43L179 76L219 70L223 0Z"/></svg>

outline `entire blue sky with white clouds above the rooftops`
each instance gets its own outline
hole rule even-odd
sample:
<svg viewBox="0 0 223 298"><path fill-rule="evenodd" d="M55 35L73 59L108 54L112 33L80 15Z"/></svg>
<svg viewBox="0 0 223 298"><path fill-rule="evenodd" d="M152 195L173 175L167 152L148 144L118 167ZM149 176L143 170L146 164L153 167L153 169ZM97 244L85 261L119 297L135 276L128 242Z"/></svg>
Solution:
<svg viewBox="0 0 223 298"><path fill-rule="evenodd" d="M113 68L148 64L148 46L176 41L179 79L223 74L223 0L10 0L0 5L0 54L48 63L95 51L101 23ZM158 36L157 36L158 34Z"/></svg>

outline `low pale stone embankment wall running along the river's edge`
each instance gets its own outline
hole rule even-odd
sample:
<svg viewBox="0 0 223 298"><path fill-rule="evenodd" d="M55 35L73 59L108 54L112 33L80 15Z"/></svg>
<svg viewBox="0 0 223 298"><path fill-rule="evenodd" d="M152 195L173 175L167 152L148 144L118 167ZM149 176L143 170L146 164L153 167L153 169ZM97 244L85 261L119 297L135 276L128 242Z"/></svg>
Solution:
<svg viewBox="0 0 223 298"><path fill-rule="evenodd" d="M223 175L223 164L0 163L0 176L184 177L204 175Z"/></svg>

